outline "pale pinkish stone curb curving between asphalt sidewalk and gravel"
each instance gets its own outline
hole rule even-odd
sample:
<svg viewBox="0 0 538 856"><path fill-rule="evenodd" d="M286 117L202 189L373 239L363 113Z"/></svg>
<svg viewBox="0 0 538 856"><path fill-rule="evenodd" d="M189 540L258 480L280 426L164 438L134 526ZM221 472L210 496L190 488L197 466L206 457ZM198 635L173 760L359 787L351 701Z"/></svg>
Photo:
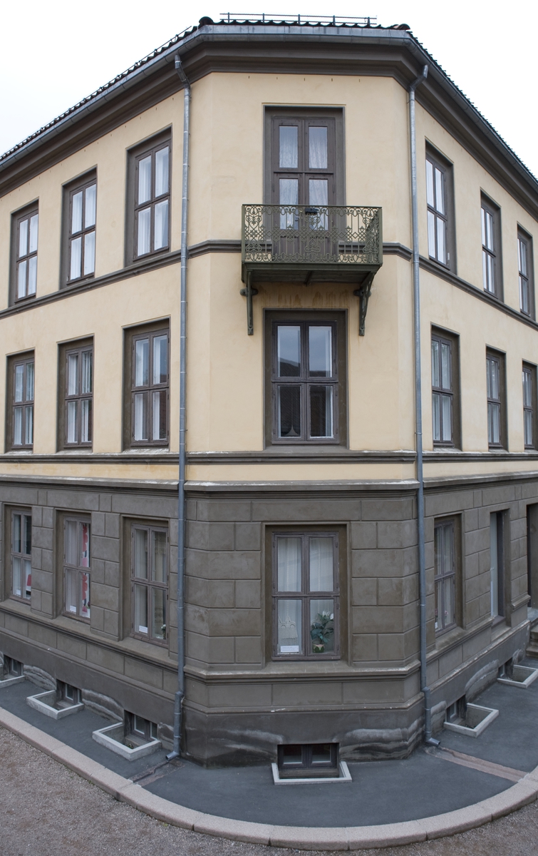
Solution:
<svg viewBox="0 0 538 856"><path fill-rule="evenodd" d="M269 823L248 823L244 820L232 820L228 817L204 814L184 805L177 805L151 794L131 779L118 776L117 773L87 758L76 749L66 746L55 737L50 737L39 728L29 725L19 716L0 707L0 726L26 740L36 749L50 755L69 770L74 770L82 778L98 785L116 800L132 805L139 811L155 817L164 823L193 829L205 835L216 835L233 841L247 841L252 844L268 844L273 847L294 847L299 850L358 850L372 847L397 847L416 841L442 838L455 835L466 829L475 829L489 823L497 817L503 817L529 805L538 797L538 767L524 776L520 782L506 788L500 794L488 800L467 805L457 811L448 811L435 817L423 817L403 823L384 823L379 826L348 827L306 827L274 826Z"/></svg>

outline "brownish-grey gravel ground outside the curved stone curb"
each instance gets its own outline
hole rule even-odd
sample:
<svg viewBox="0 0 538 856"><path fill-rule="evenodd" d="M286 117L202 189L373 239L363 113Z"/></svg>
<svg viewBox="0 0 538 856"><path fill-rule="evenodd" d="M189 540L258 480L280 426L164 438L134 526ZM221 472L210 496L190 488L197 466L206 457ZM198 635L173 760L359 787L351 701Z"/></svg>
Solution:
<svg viewBox="0 0 538 856"><path fill-rule="evenodd" d="M2 856L308 856L305 851L227 841L160 823L117 802L3 728L0 817ZM355 853L537 856L538 802L452 838Z"/></svg>

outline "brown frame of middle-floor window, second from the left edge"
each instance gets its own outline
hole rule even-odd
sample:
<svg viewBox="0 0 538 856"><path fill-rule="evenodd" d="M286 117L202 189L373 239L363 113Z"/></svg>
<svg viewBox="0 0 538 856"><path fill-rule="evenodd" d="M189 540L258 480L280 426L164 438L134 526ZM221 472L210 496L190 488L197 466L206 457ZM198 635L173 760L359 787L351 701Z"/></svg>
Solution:
<svg viewBox="0 0 538 856"><path fill-rule="evenodd" d="M69 395L69 357L70 356L78 356L78 366L77 366L77 374L78 374L78 383L79 389L81 388L82 381L82 363L83 357L82 354L90 353L92 355L91 361L91 390L89 392L81 392L74 393L73 395ZM66 342L62 344L59 348L58 354L58 402L59 402L59 412L58 412L58 437L57 437L57 448L58 449L92 449L93 443L93 383L94 383L94 351L93 351L93 339L92 337L88 337L86 339L82 339L78 342ZM89 418L89 436L88 440L84 442L80 439L81 437L81 409L82 409L82 401L90 401L90 418ZM68 439L68 430L69 430L69 419L68 419L68 411L69 404L75 402L76 407L76 417L75 417L75 440Z"/></svg>

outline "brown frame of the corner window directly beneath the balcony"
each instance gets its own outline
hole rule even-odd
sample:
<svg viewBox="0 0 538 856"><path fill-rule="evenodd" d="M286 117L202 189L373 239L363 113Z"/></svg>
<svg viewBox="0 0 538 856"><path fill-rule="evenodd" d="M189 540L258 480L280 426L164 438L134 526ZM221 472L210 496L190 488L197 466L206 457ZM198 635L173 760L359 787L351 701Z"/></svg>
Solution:
<svg viewBox="0 0 538 856"><path fill-rule="evenodd" d="M300 326L302 373L298 377L277 376L277 330L279 326ZM308 336L304 331L309 326L327 327L332 330L333 377L310 376L307 371ZM279 312L265 313L266 377L265 412L267 446L345 446L347 443L347 365L346 365L346 314L343 312ZM299 386L301 408L301 434L299 437L280 437L278 427L278 389L283 386ZM309 415L309 389L316 386L333 388L333 437L311 437Z"/></svg>

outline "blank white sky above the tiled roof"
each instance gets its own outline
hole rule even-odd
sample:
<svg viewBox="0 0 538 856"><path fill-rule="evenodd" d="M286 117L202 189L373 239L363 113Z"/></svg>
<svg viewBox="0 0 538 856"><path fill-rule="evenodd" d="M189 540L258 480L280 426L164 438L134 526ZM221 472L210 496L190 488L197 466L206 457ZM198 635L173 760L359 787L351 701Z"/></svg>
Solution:
<svg viewBox="0 0 538 856"><path fill-rule="evenodd" d="M243 0L241 0L243 3ZM295 0L265 9L251 0L231 7L285 15L371 15L405 22L488 122L538 175L536 32L538 3L519 0L364 0L338 7ZM26 0L4 3L0 27L0 152L50 122L133 62L198 23L218 20L216 0Z"/></svg>

